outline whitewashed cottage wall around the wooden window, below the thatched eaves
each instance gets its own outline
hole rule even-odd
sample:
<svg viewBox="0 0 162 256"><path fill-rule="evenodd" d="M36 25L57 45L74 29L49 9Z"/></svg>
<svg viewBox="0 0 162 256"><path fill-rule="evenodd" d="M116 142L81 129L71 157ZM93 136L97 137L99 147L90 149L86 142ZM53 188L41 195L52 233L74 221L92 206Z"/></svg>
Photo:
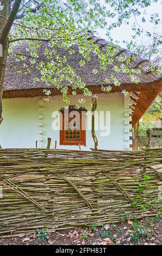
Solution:
<svg viewBox="0 0 162 256"><path fill-rule="evenodd" d="M78 103L80 95L71 96L71 105ZM110 111L110 135L101 136L101 130L96 131L99 149L129 149L129 120L128 112L121 93L98 94L97 111ZM46 147L47 137L52 138L51 148L57 141L57 148L78 149L77 146L59 145L59 131L52 129L52 113L67 106L61 96L15 98L3 100L4 121L0 126L0 145L2 148L35 148L38 141L39 147ZM91 97L86 97L83 105L91 111ZM86 131L86 147L94 147L91 131Z"/></svg>

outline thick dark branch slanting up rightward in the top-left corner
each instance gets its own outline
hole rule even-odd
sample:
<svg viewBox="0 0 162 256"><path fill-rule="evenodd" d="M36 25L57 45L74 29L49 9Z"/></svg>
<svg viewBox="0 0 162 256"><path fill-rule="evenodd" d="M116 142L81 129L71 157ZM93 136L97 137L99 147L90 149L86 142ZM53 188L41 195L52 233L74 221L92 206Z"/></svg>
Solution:
<svg viewBox="0 0 162 256"><path fill-rule="evenodd" d="M7 22L5 23L5 26L3 28L3 31L0 36L0 44L3 44L3 42L7 39L7 36L9 34L9 31L13 25L13 22L15 20L16 14L18 12L18 9L20 8L22 0L15 0L13 8L10 12L10 15L8 17Z"/></svg>

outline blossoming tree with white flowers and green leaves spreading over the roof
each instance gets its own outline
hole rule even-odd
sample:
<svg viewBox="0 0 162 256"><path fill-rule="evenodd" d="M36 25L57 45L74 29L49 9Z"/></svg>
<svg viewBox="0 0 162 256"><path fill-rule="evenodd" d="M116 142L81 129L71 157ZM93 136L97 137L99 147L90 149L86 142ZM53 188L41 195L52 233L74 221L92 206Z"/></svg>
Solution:
<svg viewBox="0 0 162 256"><path fill-rule="evenodd" d="M70 103L68 88L62 85L64 80L72 84L73 94L76 94L78 88L83 90L85 96L91 96L92 93L82 82L82 78L78 77L67 63L66 57L59 56L57 48L64 48L70 54L74 54L71 47L77 44L79 52L83 55L83 60L78 65L86 65L85 60L88 62L90 53L95 52L101 60L101 69L107 69L107 66L112 63L111 57L118 50L118 47L111 43L110 32L113 28L121 26L122 23L129 23L133 17L134 36L145 33L149 39L154 38L154 32L142 30L139 20L145 19L145 17L140 17L141 10L144 11L155 2L158 0L105 0L104 3L99 0L0 0L0 44L3 46L3 56L0 57L0 123L7 55L14 54L17 59L25 60L26 58L24 52L14 52L15 45L27 44L26 50L30 57L30 65L26 67L24 75L32 72L33 63L36 61L41 80L46 81L47 85L52 84L60 89L63 101ZM154 23L154 26L159 25L158 14L152 15L150 22ZM98 28L105 28L110 40L105 54L100 52L99 47L93 41L87 40L89 32L95 33ZM38 48L42 42L46 42L46 47L43 49L46 62L39 59ZM156 44L160 45L160 39ZM133 46L133 41L130 42L131 45ZM134 51L138 52L136 49ZM120 67L114 68L129 73L132 82L139 83L136 74L140 71L127 68L129 58L123 58L122 62ZM17 70L17 72L22 71ZM97 70L94 72L96 73ZM37 79L35 77L34 82ZM111 81L116 86L120 85L120 82L113 76L111 76ZM107 83L109 83L109 77ZM46 93L50 92L46 91ZM84 100L80 100L79 103L84 103Z"/></svg>

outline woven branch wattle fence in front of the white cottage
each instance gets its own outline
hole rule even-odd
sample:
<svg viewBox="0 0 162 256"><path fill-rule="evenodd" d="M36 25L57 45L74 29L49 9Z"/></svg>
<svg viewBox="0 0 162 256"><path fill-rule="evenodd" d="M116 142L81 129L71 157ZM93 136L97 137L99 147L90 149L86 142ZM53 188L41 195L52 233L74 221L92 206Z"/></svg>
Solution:
<svg viewBox="0 0 162 256"><path fill-rule="evenodd" d="M0 234L161 214L161 153L1 149Z"/></svg>

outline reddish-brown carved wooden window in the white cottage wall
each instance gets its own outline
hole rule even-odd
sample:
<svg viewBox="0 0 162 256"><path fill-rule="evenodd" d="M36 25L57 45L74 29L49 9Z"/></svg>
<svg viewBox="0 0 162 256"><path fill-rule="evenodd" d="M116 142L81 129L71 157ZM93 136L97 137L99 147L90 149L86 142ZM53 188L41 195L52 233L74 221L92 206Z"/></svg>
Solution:
<svg viewBox="0 0 162 256"><path fill-rule="evenodd" d="M86 145L86 110L73 106L60 111L60 145Z"/></svg>

